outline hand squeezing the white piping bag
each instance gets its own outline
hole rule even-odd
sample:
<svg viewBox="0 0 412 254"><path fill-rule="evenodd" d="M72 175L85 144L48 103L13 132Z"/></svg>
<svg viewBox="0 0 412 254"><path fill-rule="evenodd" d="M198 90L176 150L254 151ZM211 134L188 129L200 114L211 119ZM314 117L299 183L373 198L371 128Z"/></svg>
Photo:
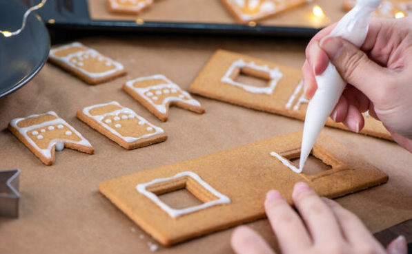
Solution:
<svg viewBox="0 0 412 254"><path fill-rule="evenodd" d="M361 113L369 110L396 142L412 152L412 18L372 19L360 50L328 36L334 26L316 34L306 47L302 67L306 98L312 98L317 89L315 75L322 74L331 61L350 84L331 118L360 131L364 127Z"/></svg>

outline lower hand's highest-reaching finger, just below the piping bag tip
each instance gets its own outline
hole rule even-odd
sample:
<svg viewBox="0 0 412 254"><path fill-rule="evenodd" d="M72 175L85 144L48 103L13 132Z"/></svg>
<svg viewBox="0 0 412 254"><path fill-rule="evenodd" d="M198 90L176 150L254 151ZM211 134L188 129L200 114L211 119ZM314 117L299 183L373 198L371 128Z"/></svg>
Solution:
<svg viewBox="0 0 412 254"><path fill-rule="evenodd" d="M295 184L292 198L311 233L314 244L343 240L335 215L308 184Z"/></svg>

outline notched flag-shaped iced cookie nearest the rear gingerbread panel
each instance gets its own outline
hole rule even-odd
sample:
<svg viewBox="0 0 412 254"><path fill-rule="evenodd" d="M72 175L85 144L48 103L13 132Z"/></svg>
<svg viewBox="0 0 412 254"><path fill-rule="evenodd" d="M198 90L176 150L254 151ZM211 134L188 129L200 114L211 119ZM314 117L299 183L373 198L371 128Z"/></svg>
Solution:
<svg viewBox="0 0 412 254"><path fill-rule="evenodd" d="M198 114L205 112L199 101L160 74L128 81L123 89L161 121L168 120L169 107L172 105Z"/></svg>

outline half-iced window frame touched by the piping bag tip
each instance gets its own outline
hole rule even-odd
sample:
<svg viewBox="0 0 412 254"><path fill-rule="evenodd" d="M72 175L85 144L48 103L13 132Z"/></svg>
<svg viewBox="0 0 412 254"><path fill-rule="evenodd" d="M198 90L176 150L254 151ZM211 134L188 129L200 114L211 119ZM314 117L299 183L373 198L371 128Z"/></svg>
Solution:
<svg viewBox="0 0 412 254"><path fill-rule="evenodd" d="M303 169L299 169L295 167L295 165L293 165L292 160L300 157L300 147L297 147L296 149L291 149L288 151L283 151L280 153L272 151L271 156L277 158L277 160L282 162L284 166L288 167L295 173L301 173L303 178L309 181L313 181L317 178L322 178L324 176L328 176L328 175L331 175L339 171L351 169L351 167L346 165L346 163L342 162L342 160L336 158L327 149L324 149L322 146L317 145L317 144L313 146L313 149L311 151L311 156L321 160L324 163L324 165L331 167L331 169L320 171L320 173L315 173L315 174L304 173L302 172Z"/></svg>

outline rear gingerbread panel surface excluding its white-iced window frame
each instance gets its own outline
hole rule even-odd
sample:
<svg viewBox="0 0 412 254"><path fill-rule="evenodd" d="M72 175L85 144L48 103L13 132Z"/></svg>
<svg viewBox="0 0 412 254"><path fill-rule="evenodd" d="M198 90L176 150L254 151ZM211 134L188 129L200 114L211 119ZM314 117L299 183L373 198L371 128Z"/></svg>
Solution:
<svg viewBox="0 0 412 254"><path fill-rule="evenodd" d="M222 82L233 66L233 63L242 60L244 63L253 63L268 70L279 70L282 77L279 78L271 93L260 93L259 89L242 89L235 85ZM217 50L208 63L197 74L188 91L193 94L222 100L242 107L248 107L264 112L288 116L304 120L308 100L303 95L302 72L300 69L288 67L257 59L244 54ZM382 123L371 116L364 115L365 126L360 134L393 140L389 131ZM326 121L326 126L349 131L342 123L335 123L331 118Z"/></svg>

